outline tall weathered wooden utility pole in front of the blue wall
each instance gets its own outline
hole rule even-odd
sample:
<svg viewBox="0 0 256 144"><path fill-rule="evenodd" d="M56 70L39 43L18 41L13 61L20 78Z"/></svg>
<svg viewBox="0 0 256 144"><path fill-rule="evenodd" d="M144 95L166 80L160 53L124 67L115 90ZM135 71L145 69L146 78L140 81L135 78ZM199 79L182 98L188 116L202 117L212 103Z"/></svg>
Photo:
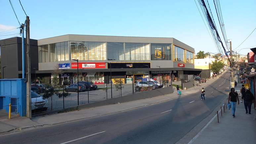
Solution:
<svg viewBox="0 0 256 144"><path fill-rule="evenodd" d="M30 69L30 34L29 17L26 17L26 41L27 41L27 118L31 119L31 69Z"/></svg>

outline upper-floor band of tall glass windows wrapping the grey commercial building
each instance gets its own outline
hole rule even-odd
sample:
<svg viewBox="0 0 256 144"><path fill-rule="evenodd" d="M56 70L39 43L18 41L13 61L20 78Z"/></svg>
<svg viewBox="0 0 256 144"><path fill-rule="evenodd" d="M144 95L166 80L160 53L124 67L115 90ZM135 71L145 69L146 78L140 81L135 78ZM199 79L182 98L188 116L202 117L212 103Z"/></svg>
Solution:
<svg viewBox="0 0 256 144"><path fill-rule="evenodd" d="M186 55L185 55L186 54ZM193 63L193 53L171 44L67 41L38 46L38 61L172 60Z"/></svg>

